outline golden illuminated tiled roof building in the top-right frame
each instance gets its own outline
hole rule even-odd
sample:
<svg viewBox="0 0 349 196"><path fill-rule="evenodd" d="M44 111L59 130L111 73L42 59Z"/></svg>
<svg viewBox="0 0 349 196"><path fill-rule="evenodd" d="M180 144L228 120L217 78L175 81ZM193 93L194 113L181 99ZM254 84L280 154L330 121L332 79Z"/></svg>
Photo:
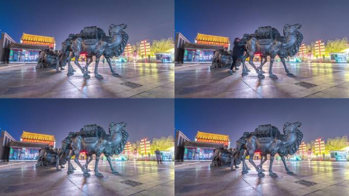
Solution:
<svg viewBox="0 0 349 196"><path fill-rule="evenodd" d="M216 35L206 35L197 33L195 43L206 44L206 45L221 45L230 50L229 37L222 37Z"/></svg>

